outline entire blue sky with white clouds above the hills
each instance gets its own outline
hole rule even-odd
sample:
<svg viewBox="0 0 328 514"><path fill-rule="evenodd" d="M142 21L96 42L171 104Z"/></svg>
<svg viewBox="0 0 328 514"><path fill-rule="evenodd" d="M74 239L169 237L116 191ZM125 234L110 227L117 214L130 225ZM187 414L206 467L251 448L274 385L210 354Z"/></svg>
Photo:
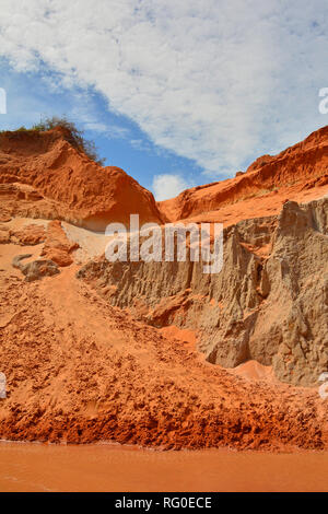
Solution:
<svg viewBox="0 0 328 514"><path fill-rule="evenodd" d="M157 199L327 125L326 0L1 0L0 129L66 114Z"/></svg>

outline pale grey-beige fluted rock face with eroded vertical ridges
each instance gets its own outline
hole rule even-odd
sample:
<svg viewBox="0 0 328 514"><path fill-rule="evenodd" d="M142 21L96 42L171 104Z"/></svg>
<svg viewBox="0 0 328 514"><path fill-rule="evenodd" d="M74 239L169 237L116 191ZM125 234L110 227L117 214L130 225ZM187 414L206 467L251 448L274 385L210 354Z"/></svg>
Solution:
<svg viewBox="0 0 328 514"><path fill-rule="evenodd" d="M218 274L202 273L201 262L103 258L78 277L151 325L197 330L213 364L255 359L295 385L328 371L328 198L288 201L278 217L225 229Z"/></svg>

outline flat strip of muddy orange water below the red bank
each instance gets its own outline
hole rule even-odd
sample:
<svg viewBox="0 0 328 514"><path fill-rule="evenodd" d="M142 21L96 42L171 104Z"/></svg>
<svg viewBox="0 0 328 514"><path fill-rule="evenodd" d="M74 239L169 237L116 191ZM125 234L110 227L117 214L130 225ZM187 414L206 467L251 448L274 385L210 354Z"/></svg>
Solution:
<svg viewBox="0 0 328 514"><path fill-rule="evenodd" d="M0 491L328 491L328 453L3 442Z"/></svg>

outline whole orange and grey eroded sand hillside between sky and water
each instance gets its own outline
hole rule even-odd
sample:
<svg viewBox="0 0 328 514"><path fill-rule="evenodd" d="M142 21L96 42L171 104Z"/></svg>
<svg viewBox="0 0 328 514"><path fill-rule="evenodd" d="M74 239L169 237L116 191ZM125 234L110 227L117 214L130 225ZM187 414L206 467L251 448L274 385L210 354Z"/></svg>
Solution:
<svg viewBox="0 0 328 514"><path fill-rule="evenodd" d="M0 437L327 448L327 400L273 376L307 386L327 371L328 200L314 201L327 139L320 129L160 212L60 130L0 135ZM224 221L224 273L109 265L90 229L138 212Z"/></svg>

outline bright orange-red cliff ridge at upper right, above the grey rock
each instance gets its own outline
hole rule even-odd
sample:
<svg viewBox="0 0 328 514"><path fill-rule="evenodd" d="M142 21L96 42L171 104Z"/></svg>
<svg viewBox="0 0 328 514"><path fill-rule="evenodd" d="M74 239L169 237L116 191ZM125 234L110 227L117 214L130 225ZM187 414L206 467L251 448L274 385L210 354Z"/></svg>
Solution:
<svg viewBox="0 0 328 514"><path fill-rule="evenodd" d="M308 201L328 191L328 127L278 155L263 155L235 178L198 186L159 202L169 221L238 220L277 214L286 200Z"/></svg>

